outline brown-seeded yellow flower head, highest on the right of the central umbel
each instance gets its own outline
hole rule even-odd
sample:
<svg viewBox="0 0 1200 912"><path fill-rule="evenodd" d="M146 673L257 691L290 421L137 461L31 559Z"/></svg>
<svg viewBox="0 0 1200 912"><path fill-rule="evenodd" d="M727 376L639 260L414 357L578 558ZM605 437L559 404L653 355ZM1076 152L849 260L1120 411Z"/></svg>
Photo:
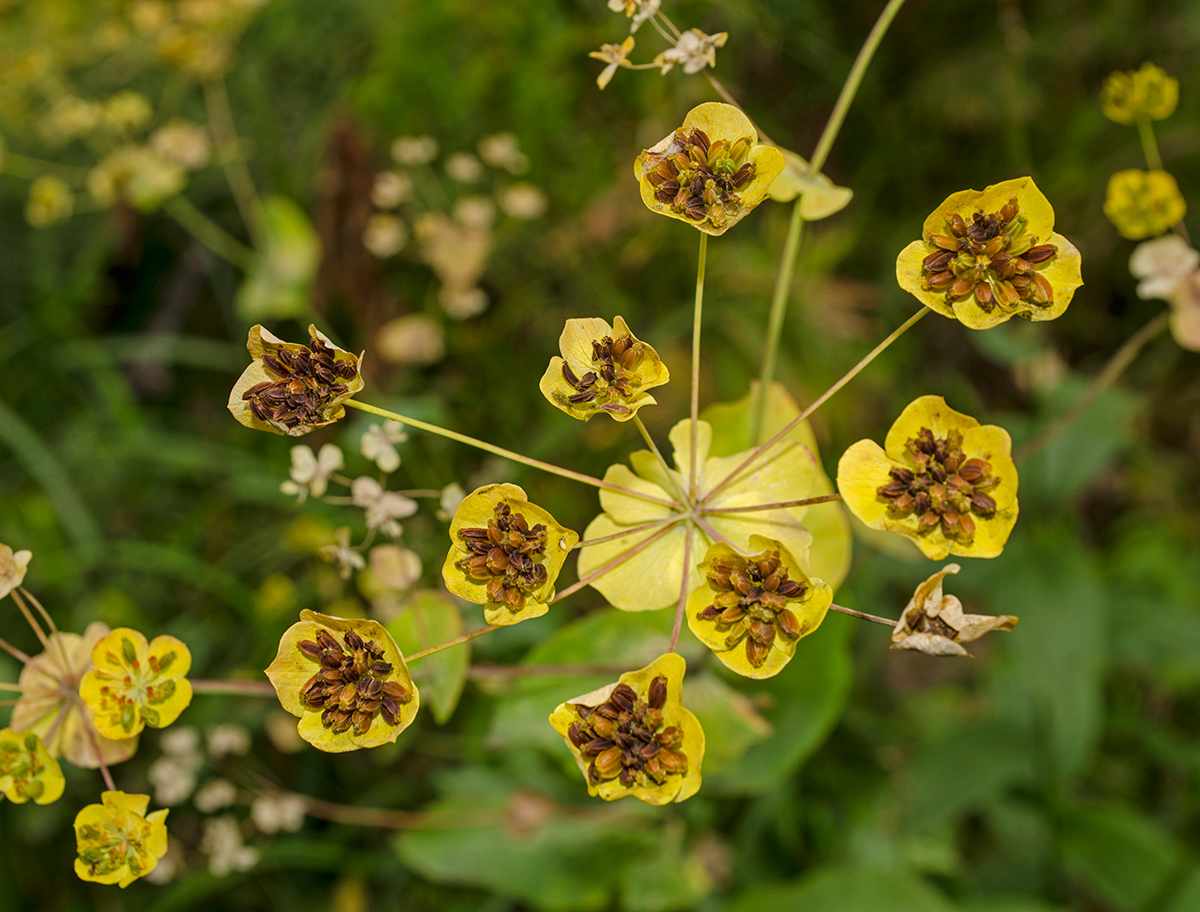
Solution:
<svg viewBox="0 0 1200 912"><path fill-rule="evenodd" d="M896 281L931 311L971 329L1012 317L1052 320L1084 284L1079 251L1054 233L1032 178L962 190L925 220L896 258Z"/></svg>

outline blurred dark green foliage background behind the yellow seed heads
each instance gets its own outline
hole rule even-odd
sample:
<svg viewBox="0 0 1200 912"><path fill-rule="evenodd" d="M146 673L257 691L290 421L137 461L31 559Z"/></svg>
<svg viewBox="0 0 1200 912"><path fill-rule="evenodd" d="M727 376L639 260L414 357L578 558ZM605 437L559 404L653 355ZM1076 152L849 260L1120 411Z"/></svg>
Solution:
<svg viewBox="0 0 1200 912"><path fill-rule="evenodd" d="M665 12L728 31L718 76L776 142L809 155L880 8L686 0ZM665 442L684 416L696 235L646 210L631 164L715 95L679 68L620 71L598 91L602 65L586 54L628 31L601 0L7 0L0 30L0 541L34 552L25 584L62 629L170 632L190 644L193 674L216 678L265 667L300 608L376 610L314 554L336 527L361 538L361 512L295 505L278 492L293 442L226 412L252 323L301 338L316 320L366 349L366 401L599 475L641 442L628 425L568 420L536 384L566 318L619 313L676 377L643 412L652 433ZM664 47L649 25L636 37L635 60ZM1133 294L1133 245L1102 215L1109 175L1142 160L1098 90L1144 60L1180 79L1158 138L1195 200L1198 43L1190 0L901 11L826 167L856 196L806 228L779 379L810 401L914 312L895 254L956 190L1032 174L1082 251L1086 286L1050 324L923 320L816 414L827 470L930 392L1028 439L1159 312ZM204 124L203 86L222 78L257 192L298 206L264 222L257 258L240 264L181 224L198 212L252 244L220 167L190 173L181 197L151 186L140 208L102 208L88 169L125 140L62 127L65 97L103 103L126 89L152 108L138 137L174 116ZM446 174L449 156L503 132L527 170ZM382 211L374 175L396 167L396 137L425 134L439 154L410 169L408 241L376 257L362 240ZM72 187L76 211L34 228L30 178L46 174ZM508 214L520 182L544 194L542 215ZM504 205L486 266L464 278L452 256L431 265L430 245L445 236L436 214L467 197ZM434 215L422 222L422 209ZM757 373L788 215L766 204L710 245L702 403L739 398ZM374 224L396 241L395 223ZM463 242L444 246L461 254ZM455 318L446 288L481 290L486 310ZM478 307L468 298L457 317ZM400 332L391 322L406 314L425 319ZM376 354L388 328L390 360ZM367 425L354 413L304 443L338 443L347 474L371 474L358 452ZM577 530L598 512L590 488L439 438L413 432L401 452L394 486L508 480ZM1200 910L1200 358L1159 337L1020 470L1004 554L962 562L950 586L968 610L1020 616L1015 632L977 643L974 661L935 660L836 616L770 682L703 662L685 692L709 733L706 782L683 805L587 798L545 716L595 677L473 677L444 724L422 713L394 748L343 756L293 752L274 700L197 696L180 726L234 722L252 748L192 752L197 782L227 779L239 798L173 806L169 880L125 892L74 880L71 820L101 782L68 769L58 804L0 806L0 907ZM434 509L403 535L430 587L445 550ZM934 569L859 541L838 601L894 617ZM472 660L631 664L661 652L668 614L616 614L586 590L478 641ZM0 631L36 648L11 600ZM17 672L0 656L0 679ZM155 793L170 731L144 736L114 770L120 787ZM310 817L270 832L247 808L270 786L407 814L398 830ZM229 822L226 848L232 828L253 856L232 871L216 863L215 818Z"/></svg>

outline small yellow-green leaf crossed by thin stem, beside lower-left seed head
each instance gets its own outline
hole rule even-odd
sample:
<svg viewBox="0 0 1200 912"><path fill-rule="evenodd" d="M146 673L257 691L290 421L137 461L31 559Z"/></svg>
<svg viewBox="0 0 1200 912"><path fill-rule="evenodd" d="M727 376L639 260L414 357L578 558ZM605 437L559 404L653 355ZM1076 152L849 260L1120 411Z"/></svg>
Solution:
<svg viewBox="0 0 1200 912"><path fill-rule="evenodd" d="M388 632L396 641L400 652L410 655L467 631L462 613L450 596L426 589L415 593L404 604L404 610L388 624ZM467 642L426 656L409 668L421 691L422 702L428 706L438 725L444 725L454 715L469 666L470 643Z"/></svg>

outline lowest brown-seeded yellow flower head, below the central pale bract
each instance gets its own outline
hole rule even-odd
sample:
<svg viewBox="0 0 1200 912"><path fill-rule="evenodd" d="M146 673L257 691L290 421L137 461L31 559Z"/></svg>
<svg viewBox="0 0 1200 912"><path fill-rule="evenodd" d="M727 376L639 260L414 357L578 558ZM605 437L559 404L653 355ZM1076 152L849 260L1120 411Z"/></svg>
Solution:
<svg viewBox="0 0 1200 912"><path fill-rule="evenodd" d="M683 708L686 667L683 656L667 653L553 712L550 724L570 748L588 794L670 804L700 791L704 730Z"/></svg>

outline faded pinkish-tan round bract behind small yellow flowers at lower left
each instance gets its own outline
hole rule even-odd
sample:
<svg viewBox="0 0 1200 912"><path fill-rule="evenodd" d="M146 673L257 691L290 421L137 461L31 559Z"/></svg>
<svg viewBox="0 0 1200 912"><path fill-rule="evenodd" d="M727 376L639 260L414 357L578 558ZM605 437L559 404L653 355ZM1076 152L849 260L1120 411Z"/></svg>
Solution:
<svg viewBox="0 0 1200 912"><path fill-rule="evenodd" d="M107 766L120 763L138 749L136 737L113 740L96 734L79 696L92 649L107 634L108 625L100 622L89 624L83 636L52 634L46 652L25 662L17 679L22 694L12 710L12 727L36 732L52 757L66 757L82 769L97 769L101 760Z"/></svg>

